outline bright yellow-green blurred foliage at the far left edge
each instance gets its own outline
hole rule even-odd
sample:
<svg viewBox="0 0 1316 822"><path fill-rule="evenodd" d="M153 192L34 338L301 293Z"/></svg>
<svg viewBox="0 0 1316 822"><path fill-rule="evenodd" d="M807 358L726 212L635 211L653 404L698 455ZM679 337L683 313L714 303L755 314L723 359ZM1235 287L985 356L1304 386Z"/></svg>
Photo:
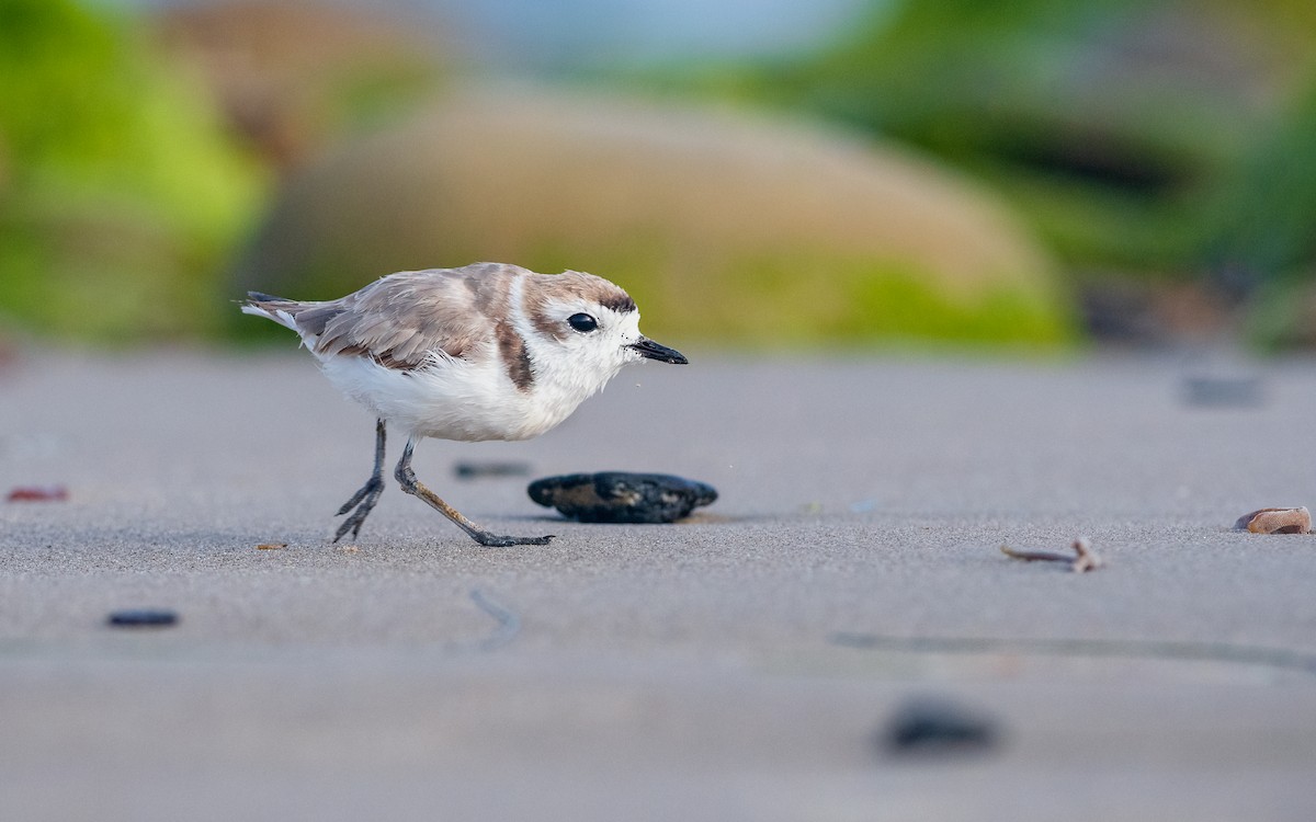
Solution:
<svg viewBox="0 0 1316 822"><path fill-rule="evenodd" d="M51 337L195 337L261 201L203 87L132 21L0 0L0 318Z"/></svg>

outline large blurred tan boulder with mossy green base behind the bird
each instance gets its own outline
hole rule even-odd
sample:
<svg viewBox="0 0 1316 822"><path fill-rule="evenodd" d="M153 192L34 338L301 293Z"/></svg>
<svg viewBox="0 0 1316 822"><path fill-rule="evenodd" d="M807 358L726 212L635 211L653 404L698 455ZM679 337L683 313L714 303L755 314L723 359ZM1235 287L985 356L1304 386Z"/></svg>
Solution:
<svg viewBox="0 0 1316 822"><path fill-rule="evenodd" d="M615 279L646 330L675 339L1070 334L1046 255L932 162L796 122L542 89L454 93L311 164L233 293L334 297L476 260Z"/></svg>

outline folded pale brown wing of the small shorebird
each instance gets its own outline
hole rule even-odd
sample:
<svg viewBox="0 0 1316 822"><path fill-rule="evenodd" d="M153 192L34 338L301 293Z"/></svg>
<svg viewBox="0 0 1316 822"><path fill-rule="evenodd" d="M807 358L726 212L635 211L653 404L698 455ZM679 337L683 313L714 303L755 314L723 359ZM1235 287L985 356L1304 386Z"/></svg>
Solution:
<svg viewBox="0 0 1316 822"><path fill-rule="evenodd" d="M490 345L507 317L516 266L404 271L329 302L301 304L297 327L318 354L370 356L390 368L422 366L430 351L459 358Z"/></svg>

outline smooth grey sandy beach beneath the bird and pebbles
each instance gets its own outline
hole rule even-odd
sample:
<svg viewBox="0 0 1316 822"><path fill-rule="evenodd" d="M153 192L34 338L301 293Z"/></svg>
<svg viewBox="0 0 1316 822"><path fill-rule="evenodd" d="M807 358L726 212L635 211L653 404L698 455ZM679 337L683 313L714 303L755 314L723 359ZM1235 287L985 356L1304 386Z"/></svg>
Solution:
<svg viewBox="0 0 1316 822"><path fill-rule="evenodd" d="M475 521L558 535L517 548L395 485L330 543L374 425L305 355L5 366L0 493L68 500L0 502L0 818L1316 817L1316 537L1228 530L1316 504L1316 362L687 354L421 446ZM532 471L453 472L486 460ZM601 470L721 498L525 495ZM1000 552L1078 535L1107 567ZM890 750L929 696L995 742Z"/></svg>

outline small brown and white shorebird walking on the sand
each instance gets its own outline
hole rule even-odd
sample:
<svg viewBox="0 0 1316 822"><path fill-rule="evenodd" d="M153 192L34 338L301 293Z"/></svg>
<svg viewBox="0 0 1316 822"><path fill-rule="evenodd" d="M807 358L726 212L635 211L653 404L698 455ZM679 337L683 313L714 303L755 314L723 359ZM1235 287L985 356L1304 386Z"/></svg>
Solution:
<svg viewBox="0 0 1316 822"><path fill-rule="evenodd" d="M640 333L636 301L582 271L508 263L399 271L345 297L299 301L247 292L241 310L291 329L325 377L375 416L375 466L336 516L355 539L384 489L386 430L407 435L393 477L482 546L547 544L494 534L416 479L429 437L520 441L555 427L634 362L687 364Z"/></svg>

